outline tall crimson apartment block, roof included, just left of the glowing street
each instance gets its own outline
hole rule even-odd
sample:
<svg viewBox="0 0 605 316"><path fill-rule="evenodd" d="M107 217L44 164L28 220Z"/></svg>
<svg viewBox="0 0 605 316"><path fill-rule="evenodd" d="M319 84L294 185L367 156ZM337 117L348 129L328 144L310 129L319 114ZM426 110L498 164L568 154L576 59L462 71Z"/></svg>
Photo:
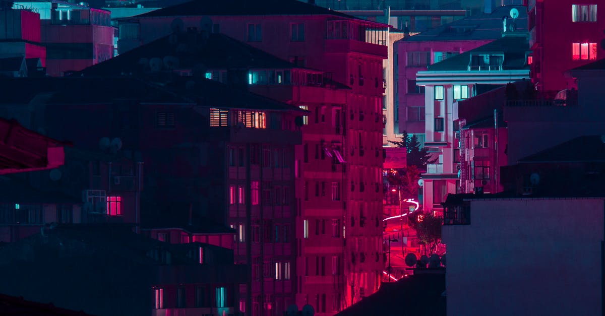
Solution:
<svg viewBox="0 0 605 316"><path fill-rule="evenodd" d="M279 58L319 69L322 73L332 73L333 81L350 87L347 93L338 92L334 96L329 96L334 93L325 89L326 97L318 96L315 100L308 97L309 105L299 101L299 94L293 95L292 100L293 105L302 105L312 112L307 118L312 122L310 125L315 124L317 117L318 131L330 131L329 134L317 131L309 134L307 145L303 144L296 154L302 180L309 182L310 195L309 201L304 201L304 189L296 189L299 194L296 202L301 199L301 213L295 228L296 244L300 245L297 262L309 262L311 274L307 276L307 268L303 266L296 265L296 270L292 268L292 276L301 277L303 286L306 284L303 278L309 279L308 287L296 289L299 292L296 303L299 306L309 303L319 313L333 314L376 291L384 268L382 260L377 261L375 257L382 253L382 226L376 223L382 218L382 59L387 58L387 47L378 43L386 40L386 25L297 1L261 2L253 4L254 8L246 7L250 5L246 3L227 2L218 8L210 8L191 2L123 19L120 28L130 27L131 33L120 33L119 50L123 53L168 35L172 22L179 18L183 28L212 24L213 30L220 30ZM335 102L333 105L331 100ZM336 133L336 124L342 124L339 133ZM333 140L342 140L342 145ZM342 166L333 164L333 150L338 146L341 146L342 160L346 162ZM304 162L305 147L309 162ZM316 148L318 162L314 161ZM321 159L322 154L324 159ZM333 171L330 165L336 170ZM305 179L306 175L308 179ZM316 186L318 196L315 196ZM340 202L332 200L333 190L334 197L341 199ZM336 195L339 190L341 196ZM325 209L331 210L326 212ZM341 226L338 230L345 238L332 237L333 222ZM315 229L321 232L317 237ZM304 237L305 231L309 231L309 238ZM325 245L321 242L323 239L332 240L329 242L332 246L320 247ZM307 243L308 255L305 254ZM345 279L342 286L337 285L342 289L341 293L336 293L341 294L339 297L333 295L334 288L322 286L335 284L331 271L333 257L336 257L335 265L341 264L344 272L341 274ZM269 298L273 292L266 291L263 295ZM280 312L267 298L257 300L263 304L263 311ZM271 311L267 303L270 303Z"/></svg>

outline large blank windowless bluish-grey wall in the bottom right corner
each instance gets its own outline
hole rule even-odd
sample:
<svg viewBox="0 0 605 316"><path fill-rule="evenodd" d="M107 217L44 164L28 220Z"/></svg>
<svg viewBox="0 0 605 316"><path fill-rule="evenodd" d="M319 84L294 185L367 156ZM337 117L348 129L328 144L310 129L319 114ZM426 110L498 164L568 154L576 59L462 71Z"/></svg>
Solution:
<svg viewBox="0 0 605 316"><path fill-rule="evenodd" d="M600 315L603 199L471 202L443 226L448 315Z"/></svg>

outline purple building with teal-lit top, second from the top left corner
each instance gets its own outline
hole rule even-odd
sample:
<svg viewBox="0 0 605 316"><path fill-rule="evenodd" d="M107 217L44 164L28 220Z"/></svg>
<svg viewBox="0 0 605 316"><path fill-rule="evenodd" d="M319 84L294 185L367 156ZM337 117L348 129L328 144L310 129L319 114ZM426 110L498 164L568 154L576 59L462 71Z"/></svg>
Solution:
<svg viewBox="0 0 605 316"><path fill-rule="evenodd" d="M113 57L110 12L63 1L18 1L14 7L39 13L48 75L63 76Z"/></svg>

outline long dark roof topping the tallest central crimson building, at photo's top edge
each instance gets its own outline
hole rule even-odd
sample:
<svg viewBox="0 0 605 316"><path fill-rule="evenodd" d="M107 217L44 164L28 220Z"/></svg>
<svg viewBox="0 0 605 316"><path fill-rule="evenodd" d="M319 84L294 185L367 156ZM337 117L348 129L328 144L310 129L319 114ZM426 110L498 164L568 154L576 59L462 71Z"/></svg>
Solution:
<svg viewBox="0 0 605 316"><path fill-rule="evenodd" d="M200 15L333 15L357 19L344 13L296 0L194 0L143 13L136 18Z"/></svg>

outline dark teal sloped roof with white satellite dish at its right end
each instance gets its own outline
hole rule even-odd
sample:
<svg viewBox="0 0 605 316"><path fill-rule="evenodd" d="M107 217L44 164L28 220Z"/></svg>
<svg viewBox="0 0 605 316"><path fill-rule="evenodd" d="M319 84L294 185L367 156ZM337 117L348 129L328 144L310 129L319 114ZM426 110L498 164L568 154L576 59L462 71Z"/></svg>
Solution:
<svg viewBox="0 0 605 316"><path fill-rule="evenodd" d="M469 16L464 19L441 25L440 27L424 31L417 35L409 36L400 41L403 42L431 42L431 41L470 41L497 39L502 34L502 18L510 18L512 8L517 8L519 16L515 19L517 30L527 30L528 13L527 8L522 5L504 5L492 13ZM509 20L510 21L510 20ZM459 28L468 28L467 32L457 32Z"/></svg>

